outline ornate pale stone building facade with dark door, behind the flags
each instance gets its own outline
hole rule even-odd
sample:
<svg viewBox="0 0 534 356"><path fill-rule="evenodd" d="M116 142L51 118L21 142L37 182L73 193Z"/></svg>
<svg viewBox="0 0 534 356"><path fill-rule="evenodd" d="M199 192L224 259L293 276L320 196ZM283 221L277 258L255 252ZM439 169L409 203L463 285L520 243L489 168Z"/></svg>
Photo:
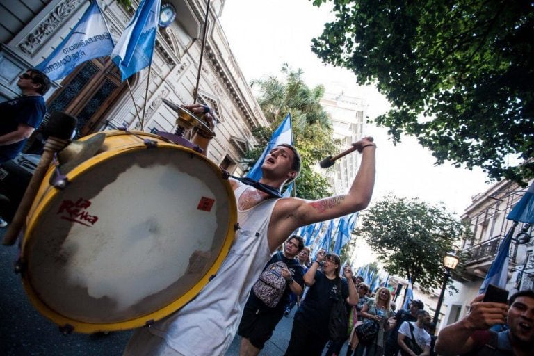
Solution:
<svg viewBox="0 0 534 356"><path fill-rule="evenodd" d="M116 43L139 1L132 0L127 7L116 0L97 1ZM176 114L162 99L176 104L189 104L195 99L207 1L161 3L172 6L177 16L170 26L159 28L150 73L145 69L131 76L131 94L109 56L79 65L54 82L47 93L49 111L63 111L78 118L79 136L118 126L140 129L138 113L143 109L143 131L173 132ZM243 171L241 157L255 144L252 129L266 124L266 120L218 20L224 4L225 0L211 1L196 101L209 104L218 117L209 157L238 175ZM88 6L88 0L0 1L1 100L19 95L17 76L46 58Z"/></svg>

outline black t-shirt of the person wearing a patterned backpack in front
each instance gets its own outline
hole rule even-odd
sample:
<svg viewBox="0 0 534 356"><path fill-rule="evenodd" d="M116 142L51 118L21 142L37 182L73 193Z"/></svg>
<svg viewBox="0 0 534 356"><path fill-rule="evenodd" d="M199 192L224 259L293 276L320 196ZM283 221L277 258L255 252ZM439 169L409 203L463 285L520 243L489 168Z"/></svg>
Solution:
<svg viewBox="0 0 534 356"><path fill-rule="evenodd" d="M298 283L301 287L304 287L304 271L302 270L302 266L298 264L298 261L296 259L286 258L282 252L276 252L275 254L273 254L273 257L270 257L270 260L265 265L264 270L270 264L274 264L278 261L284 262L284 264L287 265L287 269L289 269L289 272L291 272L291 277L293 277L293 280L295 280L295 282ZM286 290L284 291L284 295L280 299L280 302L276 307L270 308L266 306L264 302L257 298L257 296L254 294L254 291L250 291L246 307L254 307L269 313L277 312L283 314L284 310L286 309L286 304L289 302L290 294L291 289L289 288L289 284L286 284Z"/></svg>

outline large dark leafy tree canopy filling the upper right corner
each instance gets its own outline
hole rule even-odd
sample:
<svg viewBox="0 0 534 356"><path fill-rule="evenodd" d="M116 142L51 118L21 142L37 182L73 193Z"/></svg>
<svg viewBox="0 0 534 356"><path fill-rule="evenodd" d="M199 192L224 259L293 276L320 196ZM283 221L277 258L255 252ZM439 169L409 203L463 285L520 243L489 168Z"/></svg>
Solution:
<svg viewBox="0 0 534 356"><path fill-rule="evenodd" d="M327 0L312 0L320 6ZM437 163L526 184L534 163L534 3L526 0L333 0L313 40L326 63L377 83L393 109L375 119L418 138Z"/></svg>

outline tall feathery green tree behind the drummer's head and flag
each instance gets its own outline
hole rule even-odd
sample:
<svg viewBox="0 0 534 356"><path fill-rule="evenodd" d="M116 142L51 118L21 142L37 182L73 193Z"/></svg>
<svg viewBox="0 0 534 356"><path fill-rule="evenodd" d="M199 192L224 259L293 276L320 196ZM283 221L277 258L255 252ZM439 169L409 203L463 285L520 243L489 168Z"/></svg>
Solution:
<svg viewBox="0 0 534 356"><path fill-rule="evenodd" d="M291 113L293 143L302 156L302 170L296 180L296 196L316 200L330 195L331 192L327 179L314 172L312 166L337 150L332 140L332 119L319 104L324 88L309 88L302 81L300 69L291 70L288 65L284 65L282 74L285 76L283 81L270 76L268 79L252 82L252 86L259 86L261 95L258 102L270 126L254 130L258 145L247 152L245 159L253 165L259 159L273 131L287 113Z"/></svg>

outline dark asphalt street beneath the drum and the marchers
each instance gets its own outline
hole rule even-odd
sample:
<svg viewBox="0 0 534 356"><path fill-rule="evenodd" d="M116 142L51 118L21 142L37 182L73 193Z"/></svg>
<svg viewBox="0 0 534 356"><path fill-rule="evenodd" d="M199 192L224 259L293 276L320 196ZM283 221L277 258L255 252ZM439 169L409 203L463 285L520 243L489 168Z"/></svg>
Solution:
<svg viewBox="0 0 534 356"><path fill-rule="evenodd" d="M1 235L4 232L6 228L0 229ZM13 272L13 261L17 254L16 246L0 246L0 355L122 355L131 330L64 336L56 324L44 318L31 305L20 276ZM282 318L260 355L284 355L292 321L292 315ZM226 355L238 355L238 351L239 337L236 337ZM343 349L341 355L344 353Z"/></svg>

